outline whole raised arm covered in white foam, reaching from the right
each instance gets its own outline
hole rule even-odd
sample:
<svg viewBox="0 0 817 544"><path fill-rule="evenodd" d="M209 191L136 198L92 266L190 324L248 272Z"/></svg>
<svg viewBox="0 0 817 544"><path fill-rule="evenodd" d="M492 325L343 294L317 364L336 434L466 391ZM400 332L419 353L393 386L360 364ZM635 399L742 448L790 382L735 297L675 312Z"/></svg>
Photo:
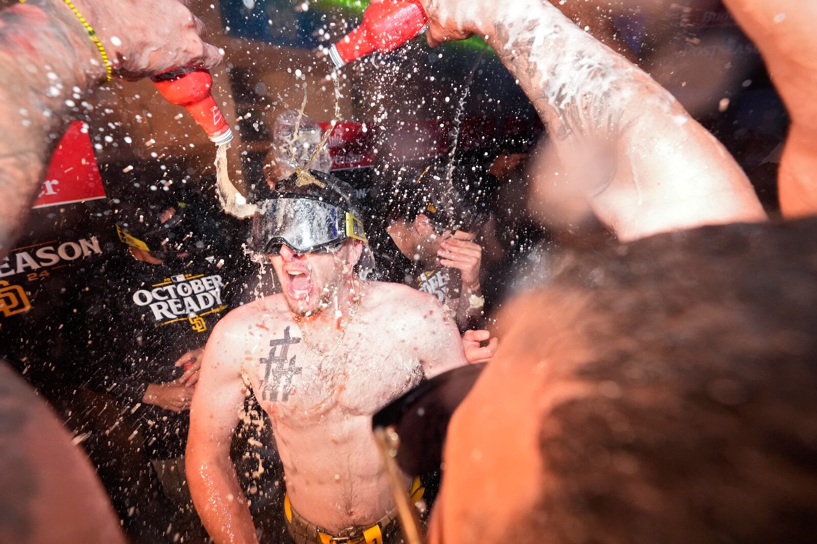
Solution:
<svg viewBox="0 0 817 544"><path fill-rule="evenodd" d="M646 73L543 0L426 0L428 40L484 36L547 125L569 184L623 241L766 218L725 148Z"/></svg>

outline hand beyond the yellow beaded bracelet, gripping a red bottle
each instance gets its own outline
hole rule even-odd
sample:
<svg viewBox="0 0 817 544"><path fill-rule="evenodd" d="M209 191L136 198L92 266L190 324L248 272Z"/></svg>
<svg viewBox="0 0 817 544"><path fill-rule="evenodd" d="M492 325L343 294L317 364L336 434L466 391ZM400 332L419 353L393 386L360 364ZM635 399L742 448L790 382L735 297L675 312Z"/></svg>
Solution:
<svg viewBox="0 0 817 544"><path fill-rule="evenodd" d="M128 80L180 66L211 69L221 62L203 41L204 24L186 0L74 0L105 46L114 73Z"/></svg>

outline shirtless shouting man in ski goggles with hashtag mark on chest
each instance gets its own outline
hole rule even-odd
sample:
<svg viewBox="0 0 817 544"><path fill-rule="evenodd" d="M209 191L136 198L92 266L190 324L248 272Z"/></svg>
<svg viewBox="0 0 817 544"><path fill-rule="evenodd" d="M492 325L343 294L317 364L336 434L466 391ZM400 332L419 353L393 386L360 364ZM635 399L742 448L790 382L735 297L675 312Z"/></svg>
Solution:
<svg viewBox="0 0 817 544"><path fill-rule="evenodd" d="M351 189L311 175L280 181L253 218L254 251L283 292L230 312L203 355L187 476L219 543L257 542L230 462L248 385L272 421L296 542L400 542L371 416L423 376L467 364L434 297L357 276L368 247Z"/></svg>

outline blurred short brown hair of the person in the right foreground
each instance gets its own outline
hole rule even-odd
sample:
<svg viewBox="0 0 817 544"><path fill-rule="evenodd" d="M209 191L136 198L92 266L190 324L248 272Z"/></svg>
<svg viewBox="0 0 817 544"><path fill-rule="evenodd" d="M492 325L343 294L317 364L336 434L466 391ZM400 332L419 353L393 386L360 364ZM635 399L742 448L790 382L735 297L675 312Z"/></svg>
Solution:
<svg viewBox="0 0 817 544"><path fill-rule="evenodd" d="M527 304L577 292L566 372L595 392L542 414L542 496L504 542L814 542L817 220L576 255Z"/></svg>

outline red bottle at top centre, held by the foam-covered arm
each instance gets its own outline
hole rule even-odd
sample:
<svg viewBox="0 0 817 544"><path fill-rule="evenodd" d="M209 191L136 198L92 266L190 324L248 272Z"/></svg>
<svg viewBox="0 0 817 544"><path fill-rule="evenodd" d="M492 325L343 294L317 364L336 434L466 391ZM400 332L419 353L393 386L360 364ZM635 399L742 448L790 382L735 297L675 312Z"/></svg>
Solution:
<svg viewBox="0 0 817 544"><path fill-rule="evenodd" d="M373 53L391 53L428 28L420 0L385 0L366 8L363 23L329 50L337 68Z"/></svg>

